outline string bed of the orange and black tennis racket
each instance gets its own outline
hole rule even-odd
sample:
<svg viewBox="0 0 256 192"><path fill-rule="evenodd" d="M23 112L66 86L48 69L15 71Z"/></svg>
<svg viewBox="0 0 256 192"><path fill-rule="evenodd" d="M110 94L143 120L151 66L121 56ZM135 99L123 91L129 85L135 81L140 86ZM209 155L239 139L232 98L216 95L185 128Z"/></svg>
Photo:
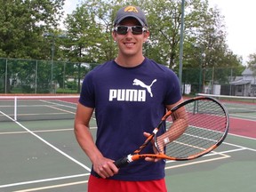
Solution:
<svg viewBox="0 0 256 192"><path fill-rule="evenodd" d="M221 140L226 131L226 112L218 103L212 100L196 100L188 103L185 108L188 127L177 140L166 145L167 156L188 158L203 153ZM172 121L167 119L166 124L170 126Z"/></svg>

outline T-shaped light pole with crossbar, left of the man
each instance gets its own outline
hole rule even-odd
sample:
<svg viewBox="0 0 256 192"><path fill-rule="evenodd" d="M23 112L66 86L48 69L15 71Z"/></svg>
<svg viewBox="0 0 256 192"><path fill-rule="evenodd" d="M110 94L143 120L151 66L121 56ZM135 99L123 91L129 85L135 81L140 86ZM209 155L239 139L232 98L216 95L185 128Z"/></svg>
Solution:
<svg viewBox="0 0 256 192"><path fill-rule="evenodd" d="M54 52L55 52L55 38L66 38L67 36L64 34L60 34L60 35L54 35L53 33L44 33L43 34L44 37L52 37L52 59L51 59L51 80L50 80L50 84L51 84L51 88L50 88L50 92L54 93L55 92L55 88L53 88L54 84L53 84L53 62L54 62Z"/></svg>

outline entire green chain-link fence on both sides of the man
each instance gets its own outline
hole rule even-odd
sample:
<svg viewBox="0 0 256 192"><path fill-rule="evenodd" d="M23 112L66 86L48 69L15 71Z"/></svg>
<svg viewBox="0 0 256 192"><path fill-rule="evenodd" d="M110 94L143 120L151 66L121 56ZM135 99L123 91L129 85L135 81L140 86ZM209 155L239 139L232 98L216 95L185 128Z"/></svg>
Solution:
<svg viewBox="0 0 256 192"><path fill-rule="evenodd" d="M97 65L0 58L0 93L78 93L86 73ZM243 67L183 68L183 93L255 96L255 72L252 69L248 75L244 73L246 70Z"/></svg>

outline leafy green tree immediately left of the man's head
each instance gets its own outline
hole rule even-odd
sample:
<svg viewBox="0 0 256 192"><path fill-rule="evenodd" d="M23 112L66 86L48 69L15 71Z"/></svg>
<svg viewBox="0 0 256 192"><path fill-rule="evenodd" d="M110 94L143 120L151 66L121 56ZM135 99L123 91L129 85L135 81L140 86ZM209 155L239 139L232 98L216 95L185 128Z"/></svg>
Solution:
<svg viewBox="0 0 256 192"><path fill-rule="evenodd" d="M113 60L116 47L111 33L113 29L113 5L105 1L86 0L68 15L65 21L68 29L68 60L77 62L74 66L77 79L77 92L80 80L88 71L84 63L101 63Z"/></svg>

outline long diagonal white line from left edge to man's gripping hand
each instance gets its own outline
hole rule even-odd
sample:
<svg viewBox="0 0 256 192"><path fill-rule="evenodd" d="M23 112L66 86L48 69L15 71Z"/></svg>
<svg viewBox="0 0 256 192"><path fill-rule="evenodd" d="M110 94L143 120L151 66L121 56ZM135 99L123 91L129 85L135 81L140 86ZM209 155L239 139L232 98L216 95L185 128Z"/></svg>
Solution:
<svg viewBox="0 0 256 192"><path fill-rule="evenodd" d="M19 122L15 121L14 119L12 119L11 116L7 116L6 114L4 114L4 112L0 111L4 116L8 117L9 119L11 119L15 124L20 125L20 127L22 127L24 130L26 130L27 132L29 132L30 134L34 135L38 140L43 141L46 145L50 146L51 148L55 149L56 151L58 151L61 155L66 156L68 159L70 159L71 161L75 162L76 164L79 164L80 166L82 166L85 170L87 170L88 172L91 172L91 169L89 167L87 167L86 165L78 162L75 158L73 158L72 156L68 156L68 154L66 154L65 152L61 151L59 148L56 148L55 146L53 146L50 142L48 142L47 140L44 140L42 137L40 137L39 135L37 135L35 132L30 131L27 127L23 126L22 124L20 124Z"/></svg>

